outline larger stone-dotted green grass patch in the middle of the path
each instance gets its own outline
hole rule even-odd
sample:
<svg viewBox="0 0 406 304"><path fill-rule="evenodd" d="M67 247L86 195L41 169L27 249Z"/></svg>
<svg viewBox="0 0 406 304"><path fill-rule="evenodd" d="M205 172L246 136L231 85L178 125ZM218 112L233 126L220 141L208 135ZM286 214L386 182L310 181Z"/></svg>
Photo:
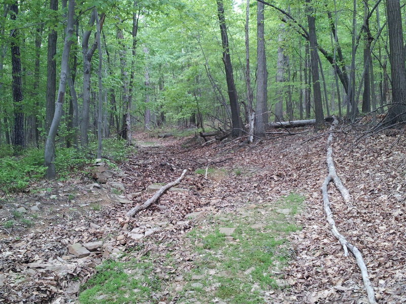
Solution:
<svg viewBox="0 0 406 304"><path fill-rule="evenodd" d="M282 197L277 207L290 208L296 213L301 210L303 200L302 196L292 193ZM275 213L270 206L275 207L269 204L249 211L249 217L227 214L224 220L219 214L212 218L207 229L193 229L187 234L192 244L200 244L195 247L199 259L195 261L192 274L205 279L200 282L203 287L193 288L191 283L196 281L186 276L188 284L180 295L181 302L192 303L188 299L193 297L202 303L218 298L227 304L262 304L266 291L286 288L275 273L292 258L286 236L300 227L293 218ZM263 223L263 227L251 227L257 223ZM235 228L232 240L219 233L219 227L224 226Z"/></svg>

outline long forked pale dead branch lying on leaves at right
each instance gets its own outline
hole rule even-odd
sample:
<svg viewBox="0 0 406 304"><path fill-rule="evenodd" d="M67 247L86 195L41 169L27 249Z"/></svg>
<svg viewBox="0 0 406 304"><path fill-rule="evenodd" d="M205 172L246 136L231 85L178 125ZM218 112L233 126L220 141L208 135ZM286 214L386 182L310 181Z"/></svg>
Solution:
<svg viewBox="0 0 406 304"><path fill-rule="evenodd" d="M375 304L375 293L374 293L374 288L371 285L371 282L369 280L369 275L368 275L368 270L365 265L365 261L362 258L361 252L358 250L357 247L354 245L348 243L346 238L340 234L340 232L337 230L337 227L335 225L335 221L333 218L333 213L330 208L330 201L328 199L328 184L332 181L337 188L337 190L340 192L341 196L343 197L344 201L349 204L351 201L350 193L348 192L347 188L343 185L341 182L340 177L337 175L335 171L335 166L332 158L332 153L333 153L333 148L332 148L332 141L333 141L333 130L334 126L337 124L336 119L334 118L333 125L330 128L328 139L327 139L327 168L328 168L328 175L324 179L323 185L321 187L321 191L323 194L323 202L324 202L324 211L327 215L327 222L330 225L331 233L334 235L334 237L340 241L341 245L343 246L344 249L344 255L348 256L348 249L354 254L357 264L359 269L361 270L361 275L362 275L362 280L364 282L364 286L366 289L366 293L368 295L368 301L370 304Z"/></svg>

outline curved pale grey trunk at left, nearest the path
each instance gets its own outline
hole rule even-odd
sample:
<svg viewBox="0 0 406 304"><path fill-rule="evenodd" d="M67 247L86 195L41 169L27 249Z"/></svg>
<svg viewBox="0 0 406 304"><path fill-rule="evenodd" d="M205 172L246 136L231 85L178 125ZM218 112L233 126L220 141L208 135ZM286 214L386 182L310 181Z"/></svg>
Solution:
<svg viewBox="0 0 406 304"><path fill-rule="evenodd" d="M69 0L69 8L67 11L67 25L66 25L66 35L65 43L63 46L61 67L60 67L60 78L59 78L59 89L58 89L58 99L56 101L55 113L53 116L52 124L49 129L47 141L45 143L45 166L47 167L47 178L54 178L56 175L55 171L55 137L58 131L59 122L62 116L63 98L66 89L66 79L69 72L69 53L71 51L71 45L73 43L72 35L74 32L74 14L75 14L75 0Z"/></svg>

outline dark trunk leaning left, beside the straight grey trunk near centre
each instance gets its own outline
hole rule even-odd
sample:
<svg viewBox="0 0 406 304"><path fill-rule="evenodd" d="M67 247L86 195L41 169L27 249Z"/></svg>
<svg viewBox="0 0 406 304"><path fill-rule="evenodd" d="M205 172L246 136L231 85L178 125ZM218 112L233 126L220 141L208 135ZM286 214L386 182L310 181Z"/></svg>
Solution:
<svg viewBox="0 0 406 304"><path fill-rule="evenodd" d="M232 74L232 65L230 58L230 49L228 47L227 27L225 25L223 0L217 1L217 16L220 22L221 42L223 46L223 63L225 69L225 77L228 88L228 98L231 108L231 123L232 123L232 137L237 137L241 134L241 118L240 108L238 104L237 91L234 84L234 76Z"/></svg>

